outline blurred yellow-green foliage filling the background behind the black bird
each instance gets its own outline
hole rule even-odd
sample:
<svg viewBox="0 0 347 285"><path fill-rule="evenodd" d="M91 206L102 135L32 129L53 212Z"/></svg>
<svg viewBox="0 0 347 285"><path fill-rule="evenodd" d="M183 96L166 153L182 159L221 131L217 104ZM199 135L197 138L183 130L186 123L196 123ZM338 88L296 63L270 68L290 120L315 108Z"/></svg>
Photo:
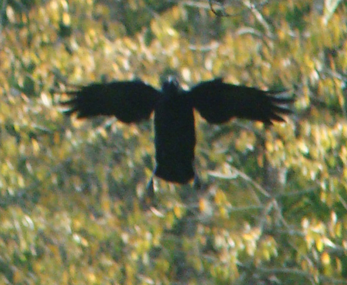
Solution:
<svg viewBox="0 0 347 285"><path fill-rule="evenodd" d="M0 284L347 284L347 2L0 1ZM71 85L288 89L287 124L196 116L201 190L151 122L64 117Z"/></svg>

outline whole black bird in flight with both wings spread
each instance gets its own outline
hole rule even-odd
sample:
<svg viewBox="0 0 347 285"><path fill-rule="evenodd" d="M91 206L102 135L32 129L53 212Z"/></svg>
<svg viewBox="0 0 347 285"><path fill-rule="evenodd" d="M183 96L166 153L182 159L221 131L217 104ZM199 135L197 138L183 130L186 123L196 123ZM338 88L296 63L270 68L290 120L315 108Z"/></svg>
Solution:
<svg viewBox="0 0 347 285"><path fill-rule="evenodd" d="M282 115L291 113L285 105L293 101L273 96L277 92L227 84L222 79L185 91L174 77L164 82L162 90L134 80L93 83L67 94L73 98L62 102L69 107L65 112L77 113L78 118L114 115L121 122L136 123L149 119L154 111L154 175L179 184L195 177L194 108L212 124L233 117L272 124L285 121Z"/></svg>

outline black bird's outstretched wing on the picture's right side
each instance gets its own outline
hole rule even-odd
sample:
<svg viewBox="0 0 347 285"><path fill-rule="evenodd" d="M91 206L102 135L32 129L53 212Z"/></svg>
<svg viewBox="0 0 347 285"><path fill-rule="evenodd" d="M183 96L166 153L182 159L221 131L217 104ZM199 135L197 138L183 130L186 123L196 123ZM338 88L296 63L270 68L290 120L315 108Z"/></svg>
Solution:
<svg viewBox="0 0 347 285"><path fill-rule="evenodd" d="M223 83L222 79L202 82L187 95L201 116L209 123L220 124L232 117L261 121L284 122L282 115L290 114L286 104L293 98L279 98L276 92Z"/></svg>

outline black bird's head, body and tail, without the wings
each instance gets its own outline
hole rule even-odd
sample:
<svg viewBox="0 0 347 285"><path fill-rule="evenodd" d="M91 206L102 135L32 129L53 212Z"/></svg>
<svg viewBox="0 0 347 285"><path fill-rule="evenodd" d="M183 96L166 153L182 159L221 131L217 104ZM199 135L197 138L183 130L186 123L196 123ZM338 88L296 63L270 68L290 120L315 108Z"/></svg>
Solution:
<svg viewBox="0 0 347 285"><path fill-rule="evenodd" d="M194 177L195 126L193 106L174 81L166 83L154 108L156 168L164 180L185 184Z"/></svg>

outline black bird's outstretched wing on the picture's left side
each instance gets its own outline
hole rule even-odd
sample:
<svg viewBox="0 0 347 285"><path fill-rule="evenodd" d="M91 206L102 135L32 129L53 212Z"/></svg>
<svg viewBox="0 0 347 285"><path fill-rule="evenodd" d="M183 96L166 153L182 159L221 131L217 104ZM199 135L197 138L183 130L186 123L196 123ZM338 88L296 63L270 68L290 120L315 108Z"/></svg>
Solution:
<svg viewBox="0 0 347 285"><path fill-rule="evenodd" d="M149 119L161 95L140 80L93 83L67 94L73 97L61 102L69 107L66 114L77 113L78 118L114 115L124 123Z"/></svg>

